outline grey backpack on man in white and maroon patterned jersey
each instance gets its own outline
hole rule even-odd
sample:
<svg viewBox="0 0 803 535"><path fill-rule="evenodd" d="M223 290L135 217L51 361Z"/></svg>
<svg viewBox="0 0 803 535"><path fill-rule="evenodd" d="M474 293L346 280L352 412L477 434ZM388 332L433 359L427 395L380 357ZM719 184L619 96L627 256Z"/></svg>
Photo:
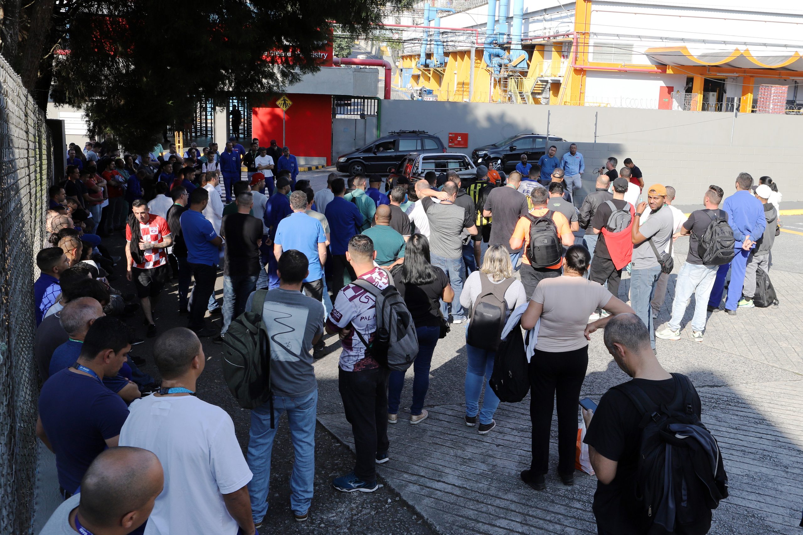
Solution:
<svg viewBox="0 0 803 535"><path fill-rule="evenodd" d="M373 295L377 305L377 330L369 343L359 330L354 330L360 341L368 348L367 354L391 371L406 371L418 355L418 334L407 305L391 284L379 290L368 281L357 279L353 284Z"/></svg>

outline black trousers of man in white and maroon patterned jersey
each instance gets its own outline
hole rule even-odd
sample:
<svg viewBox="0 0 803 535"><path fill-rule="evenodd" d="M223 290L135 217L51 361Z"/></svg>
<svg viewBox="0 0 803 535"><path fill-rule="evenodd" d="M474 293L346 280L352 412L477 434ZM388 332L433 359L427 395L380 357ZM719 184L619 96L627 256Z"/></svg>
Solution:
<svg viewBox="0 0 803 535"><path fill-rule="evenodd" d="M352 424L357 460L354 474L363 481L377 480L377 452L385 453L388 441L388 370L343 371L338 368L337 387L346 419Z"/></svg>

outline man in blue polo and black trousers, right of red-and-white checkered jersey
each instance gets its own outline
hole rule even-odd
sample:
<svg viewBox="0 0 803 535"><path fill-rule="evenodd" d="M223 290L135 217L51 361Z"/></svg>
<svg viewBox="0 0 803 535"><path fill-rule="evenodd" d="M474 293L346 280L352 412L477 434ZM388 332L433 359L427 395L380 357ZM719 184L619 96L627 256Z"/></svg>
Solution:
<svg viewBox="0 0 803 535"><path fill-rule="evenodd" d="M218 261L223 240L214 232L214 227L203 217L203 209L209 202L209 192L196 188L190 193L190 209L181 214L181 237L187 246L187 265L195 278L195 287L190 296L190 330L198 337L212 336L214 330L206 327L204 314L209 298L214 294L214 281L218 276Z"/></svg>

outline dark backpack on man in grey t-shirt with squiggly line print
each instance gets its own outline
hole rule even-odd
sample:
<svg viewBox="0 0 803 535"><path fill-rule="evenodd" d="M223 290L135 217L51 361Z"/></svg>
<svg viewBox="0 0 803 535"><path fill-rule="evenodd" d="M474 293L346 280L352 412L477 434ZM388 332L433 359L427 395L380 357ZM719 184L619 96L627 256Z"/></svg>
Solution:
<svg viewBox="0 0 803 535"><path fill-rule="evenodd" d="M273 403L271 342L262 321L267 290L256 290L251 310L231 322L223 338L223 378L240 407L253 409ZM273 427L271 407L271 428Z"/></svg>

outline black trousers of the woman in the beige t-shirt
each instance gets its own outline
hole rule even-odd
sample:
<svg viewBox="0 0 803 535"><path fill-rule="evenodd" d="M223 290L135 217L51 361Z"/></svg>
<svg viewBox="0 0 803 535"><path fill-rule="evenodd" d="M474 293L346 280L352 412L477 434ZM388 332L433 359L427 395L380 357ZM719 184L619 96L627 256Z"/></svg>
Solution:
<svg viewBox="0 0 803 535"><path fill-rule="evenodd" d="M557 397L557 471L574 473L577 445L577 402L589 367L589 347L574 351L539 351L530 361L530 421L533 474L546 474L549 465L549 428Z"/></svg>

